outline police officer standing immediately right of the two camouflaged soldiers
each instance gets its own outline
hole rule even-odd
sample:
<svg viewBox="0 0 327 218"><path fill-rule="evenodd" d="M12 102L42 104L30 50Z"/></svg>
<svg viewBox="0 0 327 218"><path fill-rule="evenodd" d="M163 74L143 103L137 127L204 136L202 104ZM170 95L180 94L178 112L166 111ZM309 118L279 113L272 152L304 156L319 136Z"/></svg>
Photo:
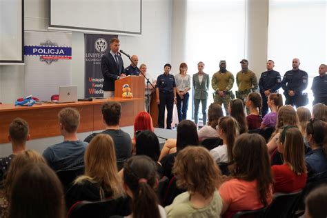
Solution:
<svg viewBox="0 0 327 218"><path fill-rule="evenodd" d="M277 92L281 88L281 75L274 70L275 62L267 61L267 71L261 73L259 79L259 89L262 97L262 117L268 113L268 96L270 93Z"/></svg>

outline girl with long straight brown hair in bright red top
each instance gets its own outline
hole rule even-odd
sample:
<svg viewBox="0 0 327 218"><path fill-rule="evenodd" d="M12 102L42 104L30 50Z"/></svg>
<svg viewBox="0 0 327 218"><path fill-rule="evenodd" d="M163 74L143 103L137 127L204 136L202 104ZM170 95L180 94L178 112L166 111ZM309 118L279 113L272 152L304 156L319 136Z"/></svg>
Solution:
<svg viewBox="0 0 327 218"><path fill-rule="evenodd" d="M284 164L271 167L274 192L297 192L306 186L304 140L295 126L286 126L277 139L277 149L283 155Z"/></svg>

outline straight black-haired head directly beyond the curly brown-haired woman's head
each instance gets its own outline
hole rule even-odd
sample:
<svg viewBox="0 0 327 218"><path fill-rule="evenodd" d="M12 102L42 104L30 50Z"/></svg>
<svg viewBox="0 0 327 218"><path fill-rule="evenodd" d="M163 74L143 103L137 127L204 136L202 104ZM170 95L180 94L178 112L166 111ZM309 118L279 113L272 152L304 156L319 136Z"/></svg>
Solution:
<svg viewBox="0 0 327 218"><path fill-rule="evenodd" d="M197 146L199 144L199 137L197 135L197 126L195 123L184 119L177 125L177 151L182 150L186 146Z"/></svg>

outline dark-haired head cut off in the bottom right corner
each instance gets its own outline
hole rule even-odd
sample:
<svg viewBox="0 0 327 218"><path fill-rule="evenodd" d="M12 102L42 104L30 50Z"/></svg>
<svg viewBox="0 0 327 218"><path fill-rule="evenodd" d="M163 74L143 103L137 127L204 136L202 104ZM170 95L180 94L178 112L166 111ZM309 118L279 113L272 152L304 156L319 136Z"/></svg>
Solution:
<svg viewBox="0 0 327 218"><path fill-rule="evenodd" d="M312 190L306 197L306 218L327 217L327 186L319 186Z"/></svg>

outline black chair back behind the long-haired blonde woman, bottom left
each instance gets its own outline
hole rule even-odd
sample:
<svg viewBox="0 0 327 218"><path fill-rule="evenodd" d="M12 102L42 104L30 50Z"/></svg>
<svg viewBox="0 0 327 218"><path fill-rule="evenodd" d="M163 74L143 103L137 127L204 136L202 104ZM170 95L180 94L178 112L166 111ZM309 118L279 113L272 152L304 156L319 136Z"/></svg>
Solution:
<svg viewBox="0 0 327 218"><path fill-rule="evenodd" d="M68 218L108 218L130 215L129 199L119 197L117 199L105 199L101 201L78 201L68 210Z"/></svg>

